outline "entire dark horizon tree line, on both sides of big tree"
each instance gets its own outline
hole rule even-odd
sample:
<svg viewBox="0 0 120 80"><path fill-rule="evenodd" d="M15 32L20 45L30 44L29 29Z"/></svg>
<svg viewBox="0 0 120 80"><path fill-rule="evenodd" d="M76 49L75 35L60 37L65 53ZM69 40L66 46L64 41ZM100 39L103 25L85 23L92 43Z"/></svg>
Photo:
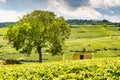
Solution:
<svg viewBox="0 0 120 80"><path fill-rule="evenodd" d="M101 24L107 24L107 25L115 25L117 27L120 27L120 22L110 22L106 19L103 20L82 20L82 19L68 19L66 22L70 25L101 25ZM0 23L0 27L5 27L6 24L15 24L16 22L3 22Z"/></svg>

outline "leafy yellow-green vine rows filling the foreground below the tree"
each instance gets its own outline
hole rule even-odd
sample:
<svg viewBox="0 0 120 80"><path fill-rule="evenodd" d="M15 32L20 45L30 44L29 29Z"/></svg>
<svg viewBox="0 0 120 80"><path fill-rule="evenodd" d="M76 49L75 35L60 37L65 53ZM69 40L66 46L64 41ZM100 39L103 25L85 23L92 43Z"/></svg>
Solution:
<svg viewBox="0 0 120 80"><path fill-rule="evenodd" d="M120 80L120 58L0 65L0 80Z"/></svg>

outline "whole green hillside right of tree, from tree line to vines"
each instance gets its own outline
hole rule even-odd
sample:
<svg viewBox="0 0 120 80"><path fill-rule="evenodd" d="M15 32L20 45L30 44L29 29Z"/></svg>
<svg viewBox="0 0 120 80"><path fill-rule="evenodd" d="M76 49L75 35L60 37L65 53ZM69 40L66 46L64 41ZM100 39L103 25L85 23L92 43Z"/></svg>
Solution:
<svg viewBox="0 0 120 80"><path fill-rule="evenodd" d="M93 51L94 58L120 56L119 27L102 25L75 25L71 28L68 50Z"/></svg>

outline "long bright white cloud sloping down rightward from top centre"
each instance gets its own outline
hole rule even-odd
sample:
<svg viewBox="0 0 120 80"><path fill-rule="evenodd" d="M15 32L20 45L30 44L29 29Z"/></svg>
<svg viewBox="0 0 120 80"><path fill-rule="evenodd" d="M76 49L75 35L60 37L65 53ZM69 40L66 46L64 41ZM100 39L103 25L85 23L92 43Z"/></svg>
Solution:
<svg viewBox="0 0 120 80"><path fill-rule="evenodd" d="M98 19L102 17L102 15L89 7L78 7L75 10L71 10L67 4L65 4L64 0L51 0L49 2L49 9L53 11L57 11L65 16L81 18L81 19Z"/></svg>

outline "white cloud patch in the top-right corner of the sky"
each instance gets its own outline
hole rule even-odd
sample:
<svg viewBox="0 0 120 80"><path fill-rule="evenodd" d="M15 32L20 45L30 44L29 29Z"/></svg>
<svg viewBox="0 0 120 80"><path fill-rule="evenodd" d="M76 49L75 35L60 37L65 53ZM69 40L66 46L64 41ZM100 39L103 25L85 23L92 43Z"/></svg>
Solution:
<svg viewBox="0 0 120 80"><path fill-rule="evenodd" d="M107 8L120 6L120 0L90 0L90 7L92 8Z"/></svg>

